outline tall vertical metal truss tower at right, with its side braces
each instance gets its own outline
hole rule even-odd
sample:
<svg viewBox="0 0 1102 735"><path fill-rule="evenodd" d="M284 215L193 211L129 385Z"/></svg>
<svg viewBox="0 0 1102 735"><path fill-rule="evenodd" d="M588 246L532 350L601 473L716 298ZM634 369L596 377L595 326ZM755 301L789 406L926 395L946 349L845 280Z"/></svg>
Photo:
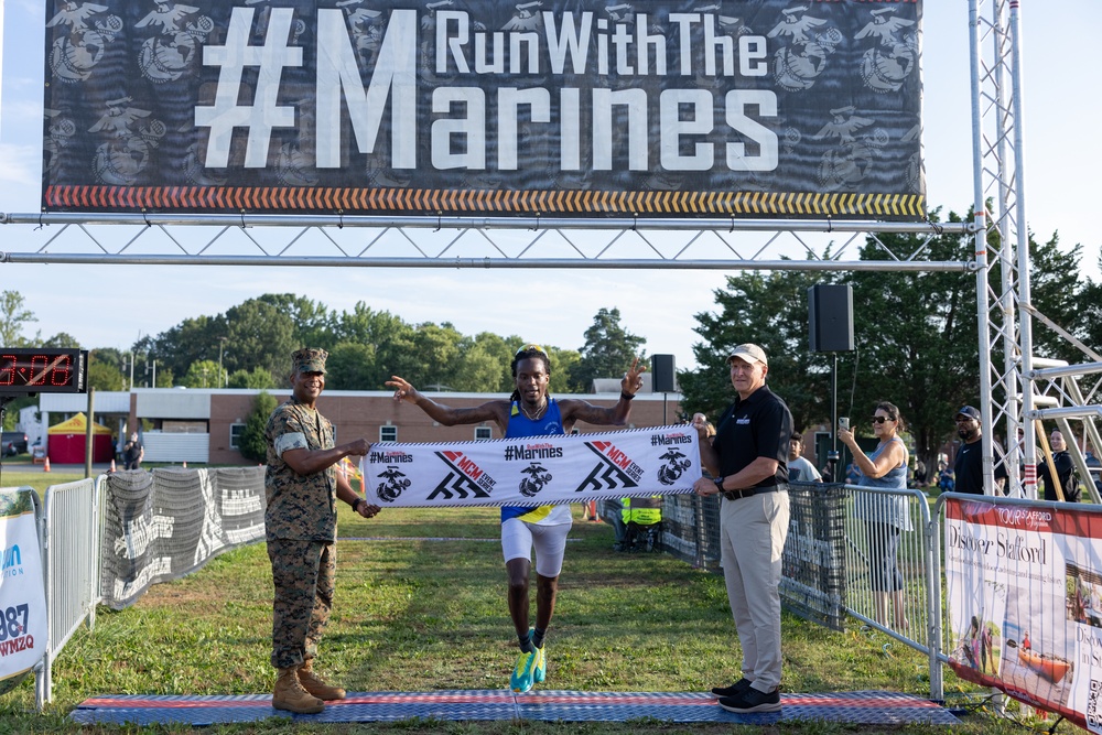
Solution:
<svg viewBox="0 0 1102 735"><path fill-rule="evenodd" d="M1095 352L1031 303L1029 234L1026 225L1026 180L1022 130L1022 33L1017 0L970 0L973 119L973 238L976 301L980 316L980 396L983 412L984 484L993 493L996 461L1004 462L1014 495L1037 497L1038 443L1047 446L1040 421L1055 421L1069 436L1078 433L1102 448L1095 420L1102 418ZM994 203L992 210L987 202ZM984 231L985 230L985 231ZM997 269L998 279L993 278ZM1073 345L1083 364L1068 365L1036 355L1034 326L1051 329ZM998 359L995 359L998 356ZM1080 381L1095 380L1084 386ZM1073 432L1070 420L1081 421ZM1040 430L1040 432L1038 432ZM1038 435L1040 433L1041 435ZM993 442L1006 437L1005 451ZM1082 452L1069 451L1095 502ZM1003 456L996 456L1003 455ZM1020 469L1020 476L1019 476Z"/></svg>

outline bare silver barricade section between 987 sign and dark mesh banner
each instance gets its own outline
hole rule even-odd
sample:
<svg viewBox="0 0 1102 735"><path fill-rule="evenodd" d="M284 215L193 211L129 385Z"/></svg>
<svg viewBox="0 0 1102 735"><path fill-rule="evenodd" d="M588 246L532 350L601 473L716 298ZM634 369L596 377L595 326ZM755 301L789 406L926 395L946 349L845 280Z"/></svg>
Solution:
<svg viewBox="0 0 1102 735"><path fill-rule="evenodd" d="M99 603L99 498L105 477L46 488L43 533L48 634L42 673L35 678L35 704L41 712L53 696L51 664L87 621L96 623Z"/></svg>

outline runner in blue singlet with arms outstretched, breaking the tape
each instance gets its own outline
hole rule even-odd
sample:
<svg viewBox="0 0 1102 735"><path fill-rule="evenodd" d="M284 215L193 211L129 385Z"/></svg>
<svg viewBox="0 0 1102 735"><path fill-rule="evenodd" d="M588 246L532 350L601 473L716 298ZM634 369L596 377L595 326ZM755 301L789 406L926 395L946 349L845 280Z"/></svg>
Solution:
<svg viewBox="0 0 1102 735"><path fill-rule="evenodd" d="M642 387L646 367L636 359L620 381L616 406L605 409L586 401L548 396L551 360L539 345L517 350L510 365L516 390L507 401L488 401L468 409L453 409L422 396L409 381L392 376L387 385L395 389L395 400L413 403L445 426L493 421L506 437L565 434L577 421L596 425L622 426L631 411L631 399ZM547 653L543 638L554 613L559 573L562 571L566 533L573 522L570 506L526 506L501 508L501 551L509 575L509 615L517 629L520 657L509 687L527 692L543 681ZM536 549L536 626L529 629L529 576L531 554Z"/></svg>

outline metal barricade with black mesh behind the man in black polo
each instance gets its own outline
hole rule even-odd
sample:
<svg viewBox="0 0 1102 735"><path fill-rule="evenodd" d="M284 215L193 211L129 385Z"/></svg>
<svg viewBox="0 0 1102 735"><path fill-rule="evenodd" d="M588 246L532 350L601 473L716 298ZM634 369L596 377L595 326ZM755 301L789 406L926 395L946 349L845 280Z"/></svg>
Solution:
<svg viewBox="0 0 1102 735"><path fill-rule="evenodd" d="M940 532L921 490L792 483L781 603L844 629L850 615L926 653L930 698L941 700ZM720 569L717 497L666 496L662 547L699 569Z"/></svg>

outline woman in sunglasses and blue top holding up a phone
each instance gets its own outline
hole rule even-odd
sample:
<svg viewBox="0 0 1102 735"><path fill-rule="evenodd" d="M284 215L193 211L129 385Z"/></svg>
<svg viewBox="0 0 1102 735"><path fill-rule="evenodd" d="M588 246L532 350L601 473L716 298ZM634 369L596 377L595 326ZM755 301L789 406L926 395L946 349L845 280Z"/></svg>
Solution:
<svg viewBox="0 0 1102 735"><path fill-rule="evenodd" d="M853 461L861 471L857 485L893 490L907 489L907 446L899 439L903 430L899 409L887 401L876 404L873 433L879 444L867 456L857 446L853 433L839 429L838 437L850 447ZM907 627L904 609L904 581L896 556L899 534L910 531L910 508L905 495L864 493L857 496L857 518L865 521L868 532L868 560L872 565L873 605L876 621L887 625L888 596L895 608L895 629Z"/></svg>

